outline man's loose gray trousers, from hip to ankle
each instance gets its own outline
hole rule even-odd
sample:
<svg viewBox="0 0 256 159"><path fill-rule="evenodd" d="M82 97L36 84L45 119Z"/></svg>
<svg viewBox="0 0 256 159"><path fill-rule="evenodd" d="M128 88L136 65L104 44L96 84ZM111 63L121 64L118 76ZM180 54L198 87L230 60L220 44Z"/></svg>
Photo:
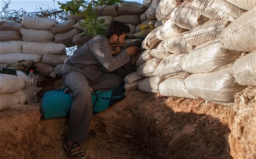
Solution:
<svg viewBox="0 0 256 159"><path fill-rule="evenodd" d="M86 142L92 119L92 99L89 86L95 90L108 91L119 88L123 79L116 74L103 73L96 81L87 80L86 76L77 71L63 74L63 83L70 88L73 99L68 119L67 140Z"/></svg>

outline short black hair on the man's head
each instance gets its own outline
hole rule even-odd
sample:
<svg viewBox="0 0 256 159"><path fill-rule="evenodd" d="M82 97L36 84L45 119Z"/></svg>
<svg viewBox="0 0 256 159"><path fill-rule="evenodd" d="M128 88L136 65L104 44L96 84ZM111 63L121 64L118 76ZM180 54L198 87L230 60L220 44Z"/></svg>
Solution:
<svg viewBox="0 0 256 159"><path fill-rule="evenodd" d="M129 25L127 25L123 22L114 20L109 24L109 27L107 27L105 35L107 38L111 38L112 35L114 35L114 34L116 34L117 36L120 36L124 33L129 33L129 32L130 32Z"/></svg>

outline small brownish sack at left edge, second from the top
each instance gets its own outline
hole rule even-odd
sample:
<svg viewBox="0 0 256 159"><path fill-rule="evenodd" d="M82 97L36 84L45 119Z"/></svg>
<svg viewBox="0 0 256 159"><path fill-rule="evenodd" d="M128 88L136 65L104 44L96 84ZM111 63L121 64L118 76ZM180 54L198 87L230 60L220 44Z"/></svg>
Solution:
<svg viewBox="0 0 256 159"><path fill-rule="evenodd" d="M0 42L9 40L22 40L21 34L13 30L0 30Z"/></svg>

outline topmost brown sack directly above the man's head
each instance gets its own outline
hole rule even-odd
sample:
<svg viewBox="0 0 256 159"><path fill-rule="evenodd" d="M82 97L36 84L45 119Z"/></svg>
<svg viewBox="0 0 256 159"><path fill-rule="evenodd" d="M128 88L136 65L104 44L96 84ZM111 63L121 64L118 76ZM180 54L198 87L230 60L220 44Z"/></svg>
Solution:
<svg viewBox="0 0 256 159"><path fill-rule="evenodd" d="M146 7L139 2L121 2L117 7L117 14L120 15L140 15L144 13Z"/></svg>

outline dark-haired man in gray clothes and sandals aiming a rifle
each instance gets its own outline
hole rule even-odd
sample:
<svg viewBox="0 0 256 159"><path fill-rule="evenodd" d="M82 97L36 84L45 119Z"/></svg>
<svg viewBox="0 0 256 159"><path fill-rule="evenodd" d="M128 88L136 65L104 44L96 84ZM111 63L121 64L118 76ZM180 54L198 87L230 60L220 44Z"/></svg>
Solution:
<svg viewBox="0 0 256 159"><path fill-rule="evenodd" d="M73 158L85 158L79 145L86 142L92 119L91 90L108 91L120 88L123 77L135 66L140 48L128 47L113 56L110 45L124 44L130 27L113 21L106 35L96 37L75 50L63 68L63 83L70 89L73 102L68 120L64 147Z"/></svg>

